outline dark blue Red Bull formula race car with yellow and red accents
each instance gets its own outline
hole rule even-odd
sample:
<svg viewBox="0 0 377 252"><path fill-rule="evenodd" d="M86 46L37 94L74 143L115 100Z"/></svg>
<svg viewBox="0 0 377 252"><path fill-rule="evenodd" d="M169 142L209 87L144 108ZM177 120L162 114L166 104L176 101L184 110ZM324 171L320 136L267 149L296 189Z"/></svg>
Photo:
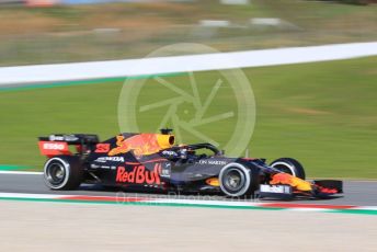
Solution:
<svg viewBox="0 0 377 252"><path fill-rule="evenodd" d="M342 193L342 182L305 181L301 164L281 158L228 158L210 144L174 145L171 129L161 134L124 133L100 141L96 135L39 137L44 180L52 190L81 183L142 192L221 193L230 197L309 198Z"/></svg>

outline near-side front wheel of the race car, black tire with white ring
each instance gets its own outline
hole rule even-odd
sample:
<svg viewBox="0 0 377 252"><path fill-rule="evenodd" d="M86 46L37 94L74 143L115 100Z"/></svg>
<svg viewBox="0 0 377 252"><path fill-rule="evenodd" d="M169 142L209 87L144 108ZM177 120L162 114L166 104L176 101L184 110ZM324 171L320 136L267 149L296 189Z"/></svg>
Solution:
<svg viewBox="0 0 377 252"><path fill-rule="evenodd" d="M252 196L259 187L258 174L241 163L228 163L219 173L221 192L229 197Z"/></svg>

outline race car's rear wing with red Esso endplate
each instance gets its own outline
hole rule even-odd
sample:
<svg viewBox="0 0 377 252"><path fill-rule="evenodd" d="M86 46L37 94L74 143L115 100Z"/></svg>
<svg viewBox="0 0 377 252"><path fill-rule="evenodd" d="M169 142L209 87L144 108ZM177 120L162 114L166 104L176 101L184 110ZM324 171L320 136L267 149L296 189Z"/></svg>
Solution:
<svg viewBox="0 0 377 252"><path fill-rule="evenodd" d="M69 146L76 146L76 150L79 153L83 153L90 150L91 147L99 142L96 135L90 134L55 134L48 137L38 138L38 147L41 154L48 158L58 154L72 154L69 150Z"/></svg>

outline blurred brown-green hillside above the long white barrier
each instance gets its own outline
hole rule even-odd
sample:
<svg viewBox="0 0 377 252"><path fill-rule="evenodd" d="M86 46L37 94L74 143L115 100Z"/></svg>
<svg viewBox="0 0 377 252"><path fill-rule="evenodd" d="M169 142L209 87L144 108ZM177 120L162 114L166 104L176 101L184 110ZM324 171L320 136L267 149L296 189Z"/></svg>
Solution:
<svg viewBox="0 0 377 252"><path fill-rule="evenodd" d="M279 18L292 25L253 26L253 18ZM377 39L377 4L307 0L2 7L0 19L0 66L140 58L187 42L233 51ZM232 25L203 27L202 20L227 20Z"/></svg>

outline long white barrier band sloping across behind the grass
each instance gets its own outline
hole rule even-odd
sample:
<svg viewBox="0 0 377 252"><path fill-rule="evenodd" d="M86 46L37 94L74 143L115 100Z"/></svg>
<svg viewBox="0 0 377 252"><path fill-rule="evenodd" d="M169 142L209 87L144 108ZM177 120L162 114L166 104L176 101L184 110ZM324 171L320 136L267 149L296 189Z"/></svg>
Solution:
<svg viewBox="0 0 377 252"><path fill-rule="evenodd" d="M316 62L377 55L377 42L0 68L0 85Z"/></svg>

